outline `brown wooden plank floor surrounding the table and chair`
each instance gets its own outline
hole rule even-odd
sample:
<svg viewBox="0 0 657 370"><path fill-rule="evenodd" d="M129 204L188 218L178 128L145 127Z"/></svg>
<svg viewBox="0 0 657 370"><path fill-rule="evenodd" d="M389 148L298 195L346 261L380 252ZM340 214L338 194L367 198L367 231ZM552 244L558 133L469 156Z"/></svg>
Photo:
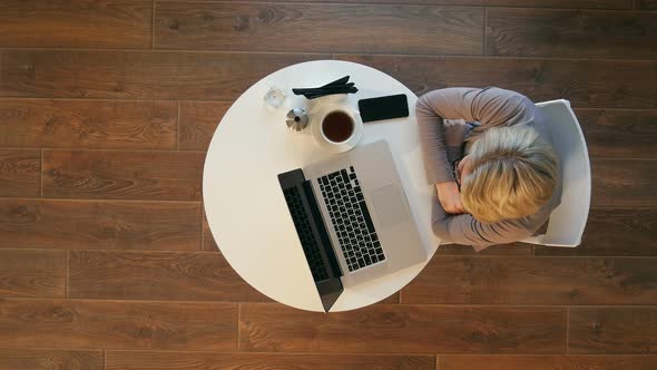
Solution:
<svg viewBox="0 0 657 370"><path fill-rule="evenodd" d="M205 150L248 86L331 58L569 99L582 245L441 247L331 315L248 286ZM655 0L1 0L0 369L657 369L656 142Z"/></svg>

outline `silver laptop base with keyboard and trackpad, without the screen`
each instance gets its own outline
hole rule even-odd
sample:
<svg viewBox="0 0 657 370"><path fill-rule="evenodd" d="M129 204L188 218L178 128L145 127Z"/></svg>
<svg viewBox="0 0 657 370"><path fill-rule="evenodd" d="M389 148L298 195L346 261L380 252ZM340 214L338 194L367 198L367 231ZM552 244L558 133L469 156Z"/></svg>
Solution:
<svg viewBox="0 0 657 370"><path fill-rule="evenodd" d="M339 172L340 177L335 175ZM343 176L345 172L346 178ZM367 144L329 160L308 165L303 168L303 173L312 184L335 256L343 272L342 283L345 288L370 282L426 260L426 251L422 246L386 142ZM337 181L335 184L327 178L330 174L333 181ZM349 250L354 238L349 235L355 232L345 233L349 228L345 230L340 218L344 218L342 215L352 217L351 214L354 213L353 216L356 217L357 223L361 197L356 197L359 206L355 206L353 202L350 205L344 202L340 205L340 201L336 203L332 196L329 196L335 194L340 183L344 185L345 179L349 179L352 189L356 188L356 184L360 187L359 191L362 193L371 218L370 226L361 227L361 237L366 235L365 237L370 236L370 240L377 240L380 246L376 246L376 243L366 245L382 249L384 255L382 261L381 255L374 250L367 259L361 255L354 263L354 252ZM327 181L330 184L326 184ZM370 232L371 226L374 227L373 234ZM343 249L346 252L343 252ZM365 263L363 263L364 260L366 260Z"/></svg>

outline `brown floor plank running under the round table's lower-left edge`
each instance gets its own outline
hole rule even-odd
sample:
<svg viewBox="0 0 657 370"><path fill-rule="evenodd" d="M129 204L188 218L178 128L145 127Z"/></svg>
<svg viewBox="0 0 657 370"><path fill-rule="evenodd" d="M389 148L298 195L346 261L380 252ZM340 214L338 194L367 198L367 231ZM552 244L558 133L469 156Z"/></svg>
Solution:
<svg viewBox="0 0 657 370"><path fill-rule="evenodd" d="M69 296L156 301L268 301L219 253L69 252Z"/></svg>

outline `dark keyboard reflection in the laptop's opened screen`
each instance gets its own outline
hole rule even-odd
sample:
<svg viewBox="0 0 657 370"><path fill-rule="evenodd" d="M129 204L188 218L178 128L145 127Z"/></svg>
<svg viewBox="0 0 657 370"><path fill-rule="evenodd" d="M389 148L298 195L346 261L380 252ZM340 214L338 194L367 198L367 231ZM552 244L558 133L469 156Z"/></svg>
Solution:
<svg viewBox="0 0 657 370"><path fill-rule="evenodd" d="M308 223L308 215L301 201L301 193L298 188L296 186L286 188L283 191L283 194L285 195L290 214L294 221L294 227L296 228L296 233L301 240L303 253L305 254L308 266L311 267L313 280L317 282L329 279L329 273L324 266L324 263L322 262L320 244L313 235L311 224Z"/></svg>

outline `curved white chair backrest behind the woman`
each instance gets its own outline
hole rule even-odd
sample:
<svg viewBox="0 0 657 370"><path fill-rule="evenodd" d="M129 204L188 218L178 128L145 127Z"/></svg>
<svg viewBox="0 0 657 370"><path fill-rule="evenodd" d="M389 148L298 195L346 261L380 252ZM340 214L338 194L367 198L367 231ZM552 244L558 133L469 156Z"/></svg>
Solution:
<svg viewBox="0 0 657 370"><path fill-rule="evenodd" d="M553 142L563 167L561 204L550 214L548 231L523 242L577 246L586 226L591 201L591 166L586 140L570 101L559 99L538 103L548 117Z"/></svg>

